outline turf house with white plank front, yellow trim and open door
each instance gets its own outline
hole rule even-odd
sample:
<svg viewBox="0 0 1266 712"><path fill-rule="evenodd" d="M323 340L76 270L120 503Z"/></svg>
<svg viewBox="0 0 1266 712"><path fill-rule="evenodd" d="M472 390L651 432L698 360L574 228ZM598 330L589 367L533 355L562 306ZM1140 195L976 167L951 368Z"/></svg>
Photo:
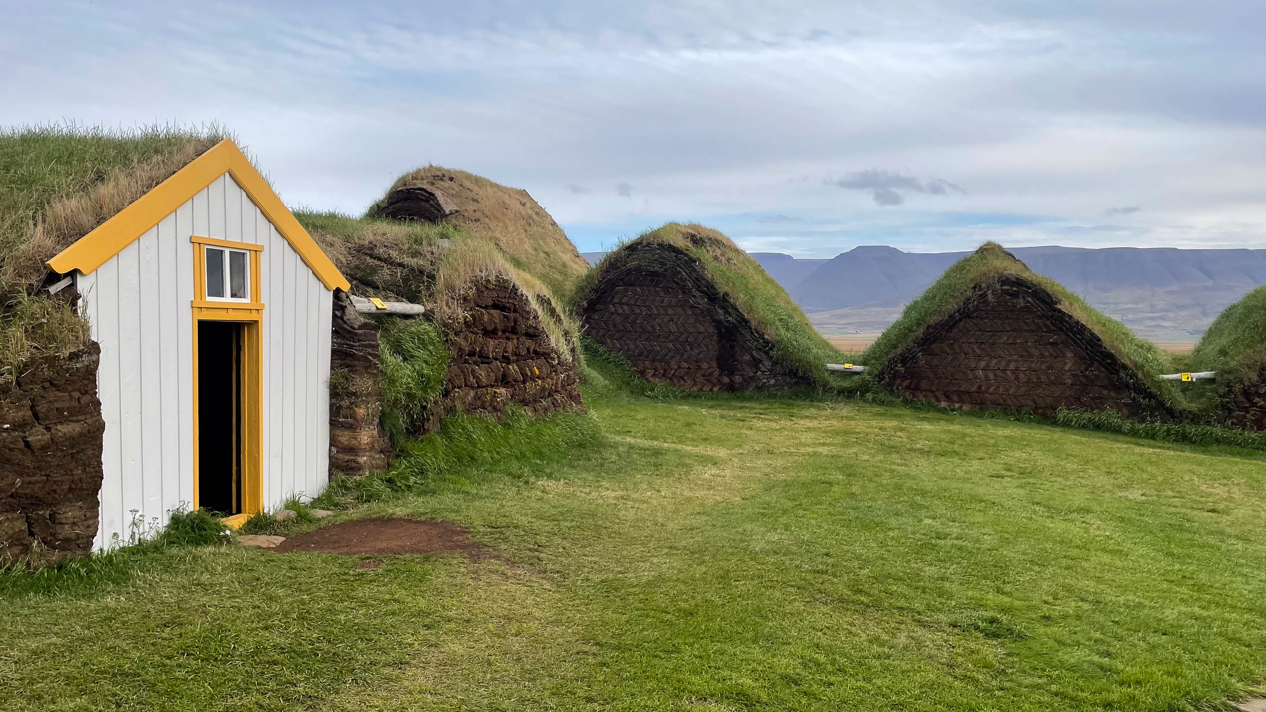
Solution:
<svg viewBox="0 0 1266 712"><path fill-rule="evenodd" d="M10 196L25 212L3 234L0 554L80 554L181 507L234 523L319 493L348 283L238 147L4 141L11 175L47 175Z"/></svg>

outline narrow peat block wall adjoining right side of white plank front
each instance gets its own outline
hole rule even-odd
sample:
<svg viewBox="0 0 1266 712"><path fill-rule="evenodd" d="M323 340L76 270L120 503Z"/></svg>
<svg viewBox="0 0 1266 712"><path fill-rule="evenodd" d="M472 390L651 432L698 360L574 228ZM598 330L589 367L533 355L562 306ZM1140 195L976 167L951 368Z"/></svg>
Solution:
<svg viewBox="0 0 1266 712"><path fill-rule="evenodd" d="M330 340L329 473L362 476L386 470L395 459L379 424L379 323L361 317L347 294L334 294Z"/></svg>

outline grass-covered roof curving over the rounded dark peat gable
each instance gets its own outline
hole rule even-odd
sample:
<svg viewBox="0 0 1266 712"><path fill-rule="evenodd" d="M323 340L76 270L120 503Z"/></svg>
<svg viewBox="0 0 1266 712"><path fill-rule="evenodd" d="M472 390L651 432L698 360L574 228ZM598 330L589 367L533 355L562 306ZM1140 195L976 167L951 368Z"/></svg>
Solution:
<svg viewBox="0 0 1266 712"><path fill-rule="evenodd" d="M755 258L720 232L704 226L667 223L622 245L585 275L573 303L585 303L604 269L629 258L630 248L646 243L670 245L694 257L717 289L774 342L774 357L780 365L812 383L832 383L825 365L839 362L843 355L813 328L786 290Z"/></svg>

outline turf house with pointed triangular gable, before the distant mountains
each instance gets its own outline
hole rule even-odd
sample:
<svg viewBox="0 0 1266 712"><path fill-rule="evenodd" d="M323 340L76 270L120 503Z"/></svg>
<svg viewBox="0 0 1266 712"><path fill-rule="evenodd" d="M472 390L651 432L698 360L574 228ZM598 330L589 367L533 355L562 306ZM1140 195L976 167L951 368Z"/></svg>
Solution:
<svg viewBox="0 0 1266 712"><path fill-rule="evenodd" d="M995 243L946 270L861 360L898 394L948 408L1175 414L1143 375L1165 370L1153 345Z"/></svg>

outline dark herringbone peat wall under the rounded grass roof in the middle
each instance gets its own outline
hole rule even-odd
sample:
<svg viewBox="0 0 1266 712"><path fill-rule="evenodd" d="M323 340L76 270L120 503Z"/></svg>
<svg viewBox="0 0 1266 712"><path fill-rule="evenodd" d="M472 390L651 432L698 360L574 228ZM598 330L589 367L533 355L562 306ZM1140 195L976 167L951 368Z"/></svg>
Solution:
<svg viewBox="0 0 1266 712"><path fill-rule="evenodd" d="M774 343L671 245L630 245L581 305L585 333L649 381L696 393L794 388Z"/></svg>

